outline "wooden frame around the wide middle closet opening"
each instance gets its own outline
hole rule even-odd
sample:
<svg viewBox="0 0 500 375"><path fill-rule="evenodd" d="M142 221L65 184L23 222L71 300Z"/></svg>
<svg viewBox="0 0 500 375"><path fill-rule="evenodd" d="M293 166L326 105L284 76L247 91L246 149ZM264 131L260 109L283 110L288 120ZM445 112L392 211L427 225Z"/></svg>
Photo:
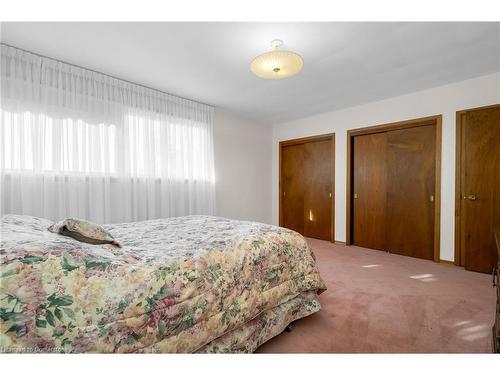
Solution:
<svg viewBox="0 0 500 375"><path fill-rule="evenodd" d="M353 154L354 137L359 135L383 133L391 130L413 128L417 126L436 126L436 161L435 161L435 184L434 184L434 261L440 262L440 239L441 239L441 127L443 116L435 115L391 122L382 125L368 126L347 130L347 180L346 180L346 245L352 245L352 180L353 180Z"/></svg>

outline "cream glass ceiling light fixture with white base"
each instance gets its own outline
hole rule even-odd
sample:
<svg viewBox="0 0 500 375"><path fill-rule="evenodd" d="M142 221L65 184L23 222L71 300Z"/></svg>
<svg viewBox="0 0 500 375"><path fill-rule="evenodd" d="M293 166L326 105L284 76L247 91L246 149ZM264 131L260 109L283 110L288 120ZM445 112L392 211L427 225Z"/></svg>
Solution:
<svg viewBox="0 0 500 375"><path fill-rule="evenodd" d="M274 39L271 42L272 51L257 56L250 63L253 74L265 79L282 79L291 77L302 70L302 56L292 51L279 49L283 41Z"/></svg>

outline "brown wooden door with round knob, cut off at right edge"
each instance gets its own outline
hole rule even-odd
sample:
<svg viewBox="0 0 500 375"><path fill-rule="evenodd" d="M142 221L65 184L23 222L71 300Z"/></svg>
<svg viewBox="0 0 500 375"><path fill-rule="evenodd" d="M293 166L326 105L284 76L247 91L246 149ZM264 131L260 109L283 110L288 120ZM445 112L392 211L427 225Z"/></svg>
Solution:
<svg viewBox="0 0 500 375"><path fill-rule="evenodd" d="M467 111L461 124L462 264L490 273L500 226L500 107Z"/></svg>

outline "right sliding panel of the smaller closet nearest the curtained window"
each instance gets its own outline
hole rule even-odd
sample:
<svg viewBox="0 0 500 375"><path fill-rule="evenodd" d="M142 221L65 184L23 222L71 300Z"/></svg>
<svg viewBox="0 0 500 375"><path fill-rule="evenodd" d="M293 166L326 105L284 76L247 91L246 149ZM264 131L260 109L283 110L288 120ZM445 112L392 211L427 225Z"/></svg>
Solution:
<svg viewBox="0 0 500 375"><path fill-rule="evenodd" d="M332 140L304 144L304 236L332 240Z"/></svg>

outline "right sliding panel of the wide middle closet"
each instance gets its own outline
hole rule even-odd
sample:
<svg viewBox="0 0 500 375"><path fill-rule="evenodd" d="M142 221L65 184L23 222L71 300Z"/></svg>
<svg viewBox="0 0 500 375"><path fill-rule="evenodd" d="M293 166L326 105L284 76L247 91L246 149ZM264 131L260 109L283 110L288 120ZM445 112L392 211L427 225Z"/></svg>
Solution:
<svg viewBox="0 0 500 375"><path fill-rule="evenodd" d="M387 132L386 250L434 259L436 126Z"/></svg>

